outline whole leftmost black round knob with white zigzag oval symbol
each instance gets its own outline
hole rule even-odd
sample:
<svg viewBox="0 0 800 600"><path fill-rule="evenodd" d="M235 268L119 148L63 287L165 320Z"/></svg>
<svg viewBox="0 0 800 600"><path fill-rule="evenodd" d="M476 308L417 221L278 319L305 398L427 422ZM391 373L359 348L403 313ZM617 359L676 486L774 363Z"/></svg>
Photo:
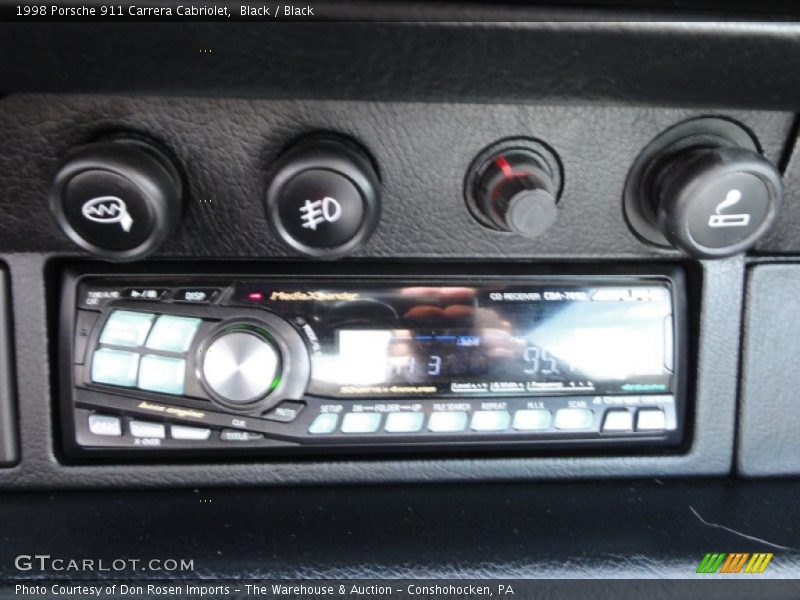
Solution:
<svg viewBox="0 0 800 600"><path fill-rule="evenodd" d="M140 139L84 146L61 165L50 208L70 239L114 261L155 252L180 220L183 188L164 151Z"/></svg>

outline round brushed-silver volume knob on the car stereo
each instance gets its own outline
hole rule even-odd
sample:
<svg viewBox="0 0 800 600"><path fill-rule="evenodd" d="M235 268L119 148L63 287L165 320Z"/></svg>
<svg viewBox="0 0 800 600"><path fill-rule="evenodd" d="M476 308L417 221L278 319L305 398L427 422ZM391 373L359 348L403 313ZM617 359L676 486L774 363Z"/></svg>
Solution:
<svg viewBox="0 0 800 600"><path fill-rule="evenodd" d="M250 331L223 333L203 358L203 378L222 399L249 404L266 396L278 375L280 357L275 347Z"/></svg>

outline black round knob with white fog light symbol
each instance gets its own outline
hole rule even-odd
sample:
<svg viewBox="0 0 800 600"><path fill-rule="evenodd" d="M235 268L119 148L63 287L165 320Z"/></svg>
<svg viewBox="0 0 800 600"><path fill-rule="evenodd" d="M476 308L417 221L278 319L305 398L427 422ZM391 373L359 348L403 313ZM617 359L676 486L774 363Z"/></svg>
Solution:
<svg viewBox="0 0 800 600"><path fill-rule="evenodd" d="M378 174L369 156L347 139L314 136L297 142L278 158L270 178L267 217L303 254L336 258L375 230Z"/></svg>

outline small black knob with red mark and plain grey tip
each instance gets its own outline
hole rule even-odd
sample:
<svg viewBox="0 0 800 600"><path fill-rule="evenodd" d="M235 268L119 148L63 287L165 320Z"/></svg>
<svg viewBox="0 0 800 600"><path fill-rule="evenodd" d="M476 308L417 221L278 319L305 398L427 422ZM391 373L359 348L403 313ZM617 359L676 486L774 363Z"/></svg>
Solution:
<svg viewBox="0 0 800 600"><path fill-rule="evenodd" d="M467 204L487 227L525 237L544 233L556 220L557 163L536 142L506 142L485 151L467 176Z"/></svg>

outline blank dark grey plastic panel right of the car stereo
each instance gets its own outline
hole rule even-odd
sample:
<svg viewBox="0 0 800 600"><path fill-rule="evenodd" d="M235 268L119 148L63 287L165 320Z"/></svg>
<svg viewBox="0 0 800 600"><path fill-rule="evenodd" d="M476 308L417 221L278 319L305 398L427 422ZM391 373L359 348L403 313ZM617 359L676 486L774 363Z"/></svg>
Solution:
<svg viewBox="0 0 800 600"><path fill-rule="evenodd" d="M800 265L752 267L745 308L738 470L800 475Z"/></svg>

